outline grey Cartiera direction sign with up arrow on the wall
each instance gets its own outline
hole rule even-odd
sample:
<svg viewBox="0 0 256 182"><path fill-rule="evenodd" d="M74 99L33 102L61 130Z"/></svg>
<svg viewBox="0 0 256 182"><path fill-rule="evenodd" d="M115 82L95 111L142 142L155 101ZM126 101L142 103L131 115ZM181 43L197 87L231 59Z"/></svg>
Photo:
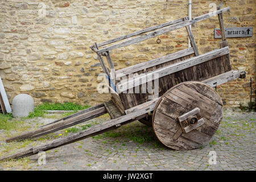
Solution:
<svg viewBox="0 0 256 182"><path fill-rule="evenodd" d="M253 27L225 28L226 38L242 38L253 36ZM221 38L220 28L214 28L214 38Z"/></svg>

